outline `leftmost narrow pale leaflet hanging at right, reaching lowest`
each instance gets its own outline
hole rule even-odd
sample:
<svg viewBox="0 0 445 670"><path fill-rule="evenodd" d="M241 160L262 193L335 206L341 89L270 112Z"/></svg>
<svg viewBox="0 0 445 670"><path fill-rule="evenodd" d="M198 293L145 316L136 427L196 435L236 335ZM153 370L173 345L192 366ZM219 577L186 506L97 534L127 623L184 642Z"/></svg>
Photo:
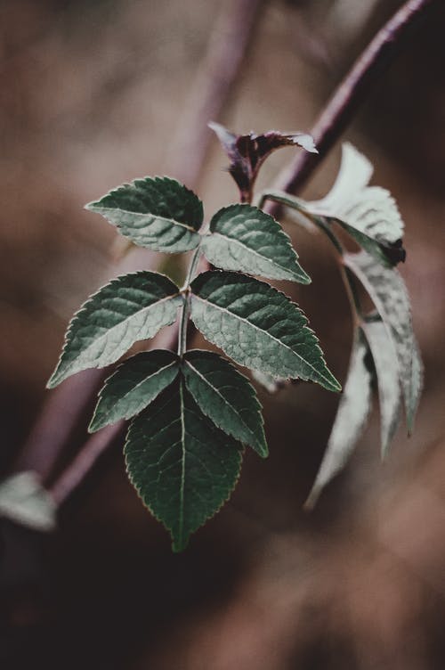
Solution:
<svg viewBox="0 0 445 670"><path fill-rule="evenodd" d="M336 421L320 470L306 501L307 507L312 507L317 502L324 486L343 470L366 426L371 409L371 373L366 365L367 354L368 347L359 331L354 339L351 363Z"/></svg>

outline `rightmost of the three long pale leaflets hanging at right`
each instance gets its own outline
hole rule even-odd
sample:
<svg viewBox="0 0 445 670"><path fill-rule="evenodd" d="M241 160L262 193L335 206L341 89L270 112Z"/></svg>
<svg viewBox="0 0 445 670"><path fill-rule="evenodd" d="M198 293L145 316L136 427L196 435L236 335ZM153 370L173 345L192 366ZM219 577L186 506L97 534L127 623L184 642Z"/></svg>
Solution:
<svg viewBox="0 0 445 670"><path fill-rule="evenodd" d="M360 279L392 339L399 363L407 424L412 432L422 391L422 362L413 332L409 296L396 269L376 263L366 252L346 254L344 263Z"/></svg>

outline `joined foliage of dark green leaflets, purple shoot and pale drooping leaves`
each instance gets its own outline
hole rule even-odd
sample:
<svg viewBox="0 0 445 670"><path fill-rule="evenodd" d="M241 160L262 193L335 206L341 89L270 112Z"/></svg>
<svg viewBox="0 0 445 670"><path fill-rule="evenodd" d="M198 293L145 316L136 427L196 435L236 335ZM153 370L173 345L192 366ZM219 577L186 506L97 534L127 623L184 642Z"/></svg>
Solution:
<svg viewBox="0 0 445 670"><path fill-rule="evenodd" d="M128 475L144 504L169 530L174 551L182 551L190 534L228 499L245 445L262 457L268 454L255 388L221 355L187 350L190 318L207 340L250 368L268 388L309 380L341 390L302 310L283 292L249 276L311 281L279 223L251 206L250 199L258 169L271 151L286 145L316 151L312 138L275 131L232 135L218 125L214 130L231 159L241 200L249 204L220 209L208 230L201 230L203 207L195 193L168 177L145 177L87 205L135 244L194 253L182 289L162 274L140 272L117 277L89 298L69 324L61 360L48 382L53 387L85 368L116 362L135 342L174 323L179 311L178 353L143 351L120 364L101 388L90 424L94 431L131 419L125 442ZM297 209L300 218L328 234L348 268L344 276L359 324L312 502L352 453L368 416L374 374L384 453L399 422L400 382L409 428L420 395L422 365L409 300L392 268L402 259L403 225L390 194L368 187L371 172L368 161L348 145L325 199L304 202L273 192L261 200ZM368 253L344 254L332 230L335 223ZM220 269L196 276L201 254ZM373 298L376 318L360 313L353 274Z"/></svg>

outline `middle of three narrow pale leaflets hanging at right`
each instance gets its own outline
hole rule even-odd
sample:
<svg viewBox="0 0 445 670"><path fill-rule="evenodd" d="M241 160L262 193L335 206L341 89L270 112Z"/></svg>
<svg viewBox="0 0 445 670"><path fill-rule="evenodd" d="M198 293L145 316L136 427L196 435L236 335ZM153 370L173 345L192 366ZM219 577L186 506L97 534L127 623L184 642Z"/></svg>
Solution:
<svg viewBox="0 0 445 670"><path fill-rule="evenodd" d="M382 321L364 323L363 331L376 367L380 403L381 453L384 458L401 421L399 366L392 339Z"/></svg>

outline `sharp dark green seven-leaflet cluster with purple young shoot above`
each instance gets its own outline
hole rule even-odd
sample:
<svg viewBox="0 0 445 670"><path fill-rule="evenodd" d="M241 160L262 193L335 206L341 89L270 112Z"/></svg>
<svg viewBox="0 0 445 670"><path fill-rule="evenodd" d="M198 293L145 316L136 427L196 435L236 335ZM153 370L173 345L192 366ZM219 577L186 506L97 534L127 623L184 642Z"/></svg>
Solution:
<svg viewBox="0 0 445 670"><path fill-rule="evenodd" d="M246 150L255 162L249 184L266 151L294 143L279 134L249 141L263 152L255 162ZM244 151L241 144L237 151ZM136 245L192 252L182 287L142 271L94 293L69 324L48 382L53 387L86 368L113 364L135 342L179 321L177 353L142 351L117 366L101 388L90 430L131 421L125 441L129 478L169 530L174 551L181 551L230 496L245 446L261 457L268 453L255 388L222 355L187 348L189 319L212 345L251 370L311 380L332 391L340 385L300 308L257 278L311 281L273 217L247 203L233 204L204 225L201 200L169 177L136 179L86 207ZM201 255L214 269L197 274Z"/></svg>

